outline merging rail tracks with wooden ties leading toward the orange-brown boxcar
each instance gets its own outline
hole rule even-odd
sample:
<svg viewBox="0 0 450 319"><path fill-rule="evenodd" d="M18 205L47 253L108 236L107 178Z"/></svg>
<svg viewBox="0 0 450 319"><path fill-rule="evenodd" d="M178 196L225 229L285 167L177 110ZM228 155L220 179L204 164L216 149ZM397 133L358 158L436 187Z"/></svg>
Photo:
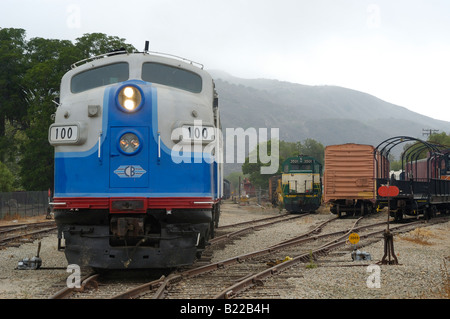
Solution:
<svg viewBox="0 0 450 319"><path fill-rule="evenodd" d="M266 278L279 275L300 262L317 259L333 249L344 246L350 232L361 232L374 227L381 228L378 231L361 236L365 238L383 233L386 225L386 222L376 222L356 227L356 224L361 220L358 219L349 229L315 235L321 232L325 225L335 220L335 218L328 220L306 234L267 249L236 256L182 273L174 273L167 278L160 278L126 293L116 295L114 298L233 298L250 287L263 285ZM391 229L394 231L394 228L411 227L417 223L422 222L399 225L391 227ZM334 239L330 240L329 237ZM309 243L307 247L304 246L305 243ZM311 243L314 243L314 247L310 245ZM299 246L302 245L303 248L299 249ZM270 259L267 259L267 256L271 256ZM292 257L286 258L285 256Z"/></svg>

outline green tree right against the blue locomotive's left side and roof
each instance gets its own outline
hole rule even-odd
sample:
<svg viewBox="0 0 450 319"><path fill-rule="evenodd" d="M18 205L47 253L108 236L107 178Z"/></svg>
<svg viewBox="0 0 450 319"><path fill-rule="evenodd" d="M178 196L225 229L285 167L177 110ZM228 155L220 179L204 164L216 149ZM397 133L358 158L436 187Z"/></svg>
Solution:
<svg viewBox="0 0 450 319"><path fill-rule="evenodd" d="M68 40L33 38L27 43L30 64L24 75L26 92L27 139L21 145L20 176L27 190L47 189L53 185L54 149L48 143L51 116L56 111L53 102L59 95L62 76L73 63L90 56L125 47L125 39L102 33L85 34L76 44Z"/></svg>

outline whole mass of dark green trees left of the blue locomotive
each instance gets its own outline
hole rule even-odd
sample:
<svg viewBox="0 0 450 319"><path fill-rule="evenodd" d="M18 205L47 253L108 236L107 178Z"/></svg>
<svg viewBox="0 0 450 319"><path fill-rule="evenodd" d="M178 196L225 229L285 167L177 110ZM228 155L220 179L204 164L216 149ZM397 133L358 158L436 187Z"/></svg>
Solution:
<svg viewBox="0 0 450 319"><path fill-rule="evenodd" d="M48 128L62 76L77 61L115 49L136 49L125 39L103 33L84 34L75 44L25 38L23 29L0 28L0 161L14 168L8 187L43 190L53 185Z"/></svg>

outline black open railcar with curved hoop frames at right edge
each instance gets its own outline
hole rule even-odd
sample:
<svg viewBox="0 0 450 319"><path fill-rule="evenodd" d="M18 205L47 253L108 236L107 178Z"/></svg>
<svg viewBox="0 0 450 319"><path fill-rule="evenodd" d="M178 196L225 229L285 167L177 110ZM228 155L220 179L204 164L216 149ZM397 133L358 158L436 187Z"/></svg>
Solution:
<svg viewBox="0 0 450 319"><path fill-rule="evenodd" d="M382 142L377 149L388 155L391 148L404 142L414 142L402 154L402 173L399 178L387 176L386 170L377 172L377 186L390 185L399 194L390 198L390 215L399 221L404 216L423 215L426 219L438 212L450 211L450 149L412 137L393 137ZM421 154L426 152L426 158ZM378 197L380 206L387 199Z"/></svg>

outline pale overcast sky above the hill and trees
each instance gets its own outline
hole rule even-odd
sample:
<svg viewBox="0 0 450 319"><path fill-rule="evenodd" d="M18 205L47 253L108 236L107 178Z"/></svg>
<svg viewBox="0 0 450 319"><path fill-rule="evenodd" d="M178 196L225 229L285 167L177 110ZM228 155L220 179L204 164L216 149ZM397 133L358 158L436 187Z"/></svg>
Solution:
<svg viewBox="0 0 450 319"><path fill-rule="evenodd" d="M0 0L0 27L101 32L243 78L337 85L450 121L448 0ZM449 127L450 132L450 127Z"/></svg>

